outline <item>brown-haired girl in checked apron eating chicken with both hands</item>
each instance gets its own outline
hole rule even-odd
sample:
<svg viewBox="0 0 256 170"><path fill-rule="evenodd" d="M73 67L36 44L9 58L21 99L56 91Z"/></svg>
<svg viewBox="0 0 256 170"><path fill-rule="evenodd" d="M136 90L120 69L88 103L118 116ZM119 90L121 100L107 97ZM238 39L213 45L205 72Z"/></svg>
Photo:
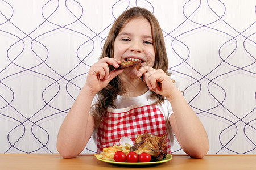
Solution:
<svg viewBox="0 0 256 170"><path fill-rule="evenodd" d="M143 67L117 69L121 61L130 60ZM169 153L175 134L189 156L202 158L209 150L207 134L167 70L162 29L154 15L139 7L124 12L110 29L100 60L90 68L60 127L59 153L76 157L91 136L101 152L123 136L134 141L147 132L168 133Z"/></svg>

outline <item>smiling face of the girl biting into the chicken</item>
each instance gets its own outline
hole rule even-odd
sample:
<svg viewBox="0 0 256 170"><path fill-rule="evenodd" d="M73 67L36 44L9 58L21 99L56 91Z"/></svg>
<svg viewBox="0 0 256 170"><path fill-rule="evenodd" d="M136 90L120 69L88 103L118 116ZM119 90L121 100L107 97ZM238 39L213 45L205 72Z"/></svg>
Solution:
<svg viewBox="0 0 256 170"><path fill-rule="evenodd" d="M119 61L137 60L142 66L153 67L155 50L151 26L147 19L131 19L121 29L114 41L114 58ZM125 69L124 73L138 74L135 67Z"/></svg>

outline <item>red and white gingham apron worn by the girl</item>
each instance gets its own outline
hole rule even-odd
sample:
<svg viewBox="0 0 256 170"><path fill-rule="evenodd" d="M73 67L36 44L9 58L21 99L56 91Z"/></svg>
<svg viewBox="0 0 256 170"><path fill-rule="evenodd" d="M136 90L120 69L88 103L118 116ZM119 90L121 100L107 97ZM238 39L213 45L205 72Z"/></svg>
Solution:
<svg viewBox="0 0 256 170"><path fill-rule="evenodd" d="M97 133L97 151L119 145L121 137L129 137L133 142L138 134L149 133L162 137L167 133L164 115L155 105L144 105L126 112L107 112ZM171 154L170 141L167 138L167 152Z"/></svg>

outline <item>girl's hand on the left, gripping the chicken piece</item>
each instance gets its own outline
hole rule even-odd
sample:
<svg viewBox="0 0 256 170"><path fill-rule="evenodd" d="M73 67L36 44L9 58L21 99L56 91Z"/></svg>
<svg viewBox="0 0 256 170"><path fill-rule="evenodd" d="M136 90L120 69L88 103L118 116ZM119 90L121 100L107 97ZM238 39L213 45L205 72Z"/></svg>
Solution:
<svg viewBox="0 0 256 170"><path fill-rule="evenodd" d="M85 88L88 88L92 95L96 95L98 91L108 85L110 80L122 73L123 69L109 72L109 65L118 68L120 63L120 61L117 61L114 58L104 57L100 59L100 61L90 67Z"/></svg>

